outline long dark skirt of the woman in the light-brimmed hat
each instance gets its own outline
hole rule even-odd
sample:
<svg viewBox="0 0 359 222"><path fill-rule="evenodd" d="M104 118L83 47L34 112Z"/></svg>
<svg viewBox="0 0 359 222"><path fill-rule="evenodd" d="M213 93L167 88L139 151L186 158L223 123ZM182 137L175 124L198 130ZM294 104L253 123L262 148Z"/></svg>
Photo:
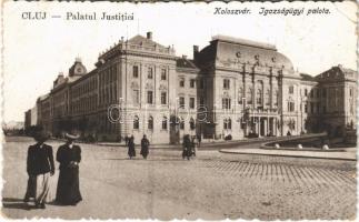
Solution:
<svg viewBox="0 0 359 222"><path fill-rule="evenodd" d="M60 169L56 201L63 205L76 205L82 201L78 167Z"/></svg>

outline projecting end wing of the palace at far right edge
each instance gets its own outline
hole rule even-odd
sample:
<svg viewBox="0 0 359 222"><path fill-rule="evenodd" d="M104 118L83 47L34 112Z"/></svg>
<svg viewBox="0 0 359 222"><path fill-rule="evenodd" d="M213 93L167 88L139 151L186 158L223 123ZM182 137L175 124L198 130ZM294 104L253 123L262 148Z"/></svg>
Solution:
<svg viewBox="0 0 359 222"><path fill-rule="evenodd" d="M357 72L341 65L316 77L318 130L330 134L342 134L345 129L356 129L357 124Z"/></svg>

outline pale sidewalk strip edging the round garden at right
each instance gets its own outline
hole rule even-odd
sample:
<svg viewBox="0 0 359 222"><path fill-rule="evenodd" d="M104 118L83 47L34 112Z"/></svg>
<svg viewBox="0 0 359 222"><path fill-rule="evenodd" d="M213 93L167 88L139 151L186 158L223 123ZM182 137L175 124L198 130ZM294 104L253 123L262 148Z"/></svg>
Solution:
<svg viewBox="0 0 359 222"><path fill-rule="evenodd" d="M269 149L221 149L219 152L230 154L257 154L291 158L313 158L329 160L357 160L357 148L348 148L338 151L303 151L303 150L269 150Z"/></svg>

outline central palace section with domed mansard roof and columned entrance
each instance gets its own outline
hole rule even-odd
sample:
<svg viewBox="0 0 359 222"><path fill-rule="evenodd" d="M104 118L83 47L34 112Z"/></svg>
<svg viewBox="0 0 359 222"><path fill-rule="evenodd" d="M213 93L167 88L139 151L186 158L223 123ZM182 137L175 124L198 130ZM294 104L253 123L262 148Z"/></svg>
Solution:
<svg viewBox="0 0 359 222"><path fill-rule="evenodd" d="M207 82L206 137L300 132L300 75L273 46L217 36L193 57Z"/></svg>

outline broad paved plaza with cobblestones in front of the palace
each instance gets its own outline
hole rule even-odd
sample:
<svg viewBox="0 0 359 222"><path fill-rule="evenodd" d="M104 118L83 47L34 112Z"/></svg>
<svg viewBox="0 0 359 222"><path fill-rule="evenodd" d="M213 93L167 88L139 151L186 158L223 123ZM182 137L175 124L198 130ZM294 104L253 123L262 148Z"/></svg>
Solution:
<svg viewBox="0 0 359 222"><path fill-rule="evenodd" d="M62 219L356 219L356 161L198 151L195 160L178 150L150 150L149 159L128 160L117 147L80 144L77 206L48 204L29 210L29 138L3 147L3 209L8 218ZM59 142L49 141L54 152ZM247 144L247 147L259 144ZM58 163L57 169L58 169ZM54 195L58 171L51 178Z"/></svg>

